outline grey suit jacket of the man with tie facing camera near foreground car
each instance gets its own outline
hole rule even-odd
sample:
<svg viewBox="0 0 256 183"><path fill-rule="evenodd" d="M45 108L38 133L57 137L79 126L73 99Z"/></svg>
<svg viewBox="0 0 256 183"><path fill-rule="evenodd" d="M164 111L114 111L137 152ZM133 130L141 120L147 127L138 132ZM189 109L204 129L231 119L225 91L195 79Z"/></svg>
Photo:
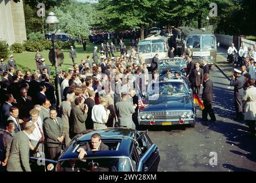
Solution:
<svg viewBox="0 0 256 183"><path fill-rule="evenodd" d="M59 142L57 140L58 137L61 137L61 136L65 137L64 124L61 118L56 117L56 120L58 121L59 125L57 125L56 122L52 120L52 118L47 118L44 121L44 131L45 131L46 141L48 142ZM54 148L60 145L47 144L47 146L49 148Z"/></svg>

